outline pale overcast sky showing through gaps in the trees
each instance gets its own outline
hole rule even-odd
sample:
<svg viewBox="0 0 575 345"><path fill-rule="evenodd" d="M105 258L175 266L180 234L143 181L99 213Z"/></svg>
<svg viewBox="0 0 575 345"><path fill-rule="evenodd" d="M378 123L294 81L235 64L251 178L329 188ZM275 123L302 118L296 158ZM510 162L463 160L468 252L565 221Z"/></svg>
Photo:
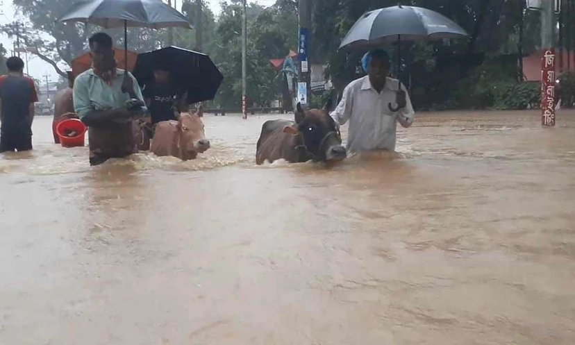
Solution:
<svg viewBox="0 0 575 345"><path fill-rule="evenodd" d="M70 2L72 3L73 1ZM165 0L165 2L167 2L167 0ZM212 8L212 10L216 14L218 14L220 10L219 3L221 2L221 0L207 0L207 2L210 8ZM271 6L275 2L276 2L275 0L249 0L249 3L259 3L260 5L263 6ZM176 1L176 6L178 6L178 10L181 9L181 0ZM0 0L0 24L6 24L12 22L14 18L15 18L15 10L12 7L12 0ZM1 33L0 43L3 44L3 46L8 51L8 56L10 56L10 50L12 49L12 40L10 40L6 34ZM25 58L24 54L21 54L20 56L23 59ZM56 73L56 71L54 71L53 67L51 67L51 65L47 64L46 62L43 62L38 57L35 57L33 55L28 56L28 70L33 78L42 81L42 83L44 83L45 81L44 78L45 74L48 74L50 81L58 80L58 74Z"/></svg>

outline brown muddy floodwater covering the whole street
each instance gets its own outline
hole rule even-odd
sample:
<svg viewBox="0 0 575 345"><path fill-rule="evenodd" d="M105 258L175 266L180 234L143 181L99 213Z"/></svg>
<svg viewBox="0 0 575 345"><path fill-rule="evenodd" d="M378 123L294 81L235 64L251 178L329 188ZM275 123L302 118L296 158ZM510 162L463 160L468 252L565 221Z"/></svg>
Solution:
<svg viewBox="0 0 575 345"><path fill-rule="evenodd" d="M419 114L399 154L0 157L0 344L575 344L575 112ZM287 115L286 115L287 116Z"/></svg>

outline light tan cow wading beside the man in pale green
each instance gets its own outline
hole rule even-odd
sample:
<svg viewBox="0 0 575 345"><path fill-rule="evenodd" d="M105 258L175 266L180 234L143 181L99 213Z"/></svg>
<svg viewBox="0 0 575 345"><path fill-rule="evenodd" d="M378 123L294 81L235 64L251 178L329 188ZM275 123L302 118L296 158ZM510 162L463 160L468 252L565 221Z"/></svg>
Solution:
<svg viewBox="0 0 575 345"><path fill-rule="evenodd" d="M159 157L172 155L181 160L195 159L198 153L210 148L203 122L197 113L182 114L178 121L162 121L156 124L150 151Z"/></svg>

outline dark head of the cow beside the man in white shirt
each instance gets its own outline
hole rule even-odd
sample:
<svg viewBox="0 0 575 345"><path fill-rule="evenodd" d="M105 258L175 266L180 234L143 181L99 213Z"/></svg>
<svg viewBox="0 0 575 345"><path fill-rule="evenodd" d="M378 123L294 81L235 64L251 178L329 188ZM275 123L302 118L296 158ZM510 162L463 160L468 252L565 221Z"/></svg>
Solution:
<svg viewBox="0 0 575 345"><path fill-rule="evenodd" d="M303 145L314 160L343 160L347 152L342 146L342 137L335 121L328 115L327 108L303 110L297 103L294 126L285 126L283 133L301 134Z"/></svg>

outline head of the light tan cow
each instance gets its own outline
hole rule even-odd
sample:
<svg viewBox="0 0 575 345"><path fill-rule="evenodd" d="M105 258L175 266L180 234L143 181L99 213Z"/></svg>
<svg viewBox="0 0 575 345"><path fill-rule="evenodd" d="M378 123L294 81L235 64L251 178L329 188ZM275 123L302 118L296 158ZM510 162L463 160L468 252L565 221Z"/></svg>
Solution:
<svg viewBox="0 0 575 345"><path fill-rule="evenodd" d="M203 130L203 121L197 112L182 114L178 117L178 131L180 132L180 149L184 159L196 158L198 153L206 152L210 148L210 140L206 139Z"/></svg>

